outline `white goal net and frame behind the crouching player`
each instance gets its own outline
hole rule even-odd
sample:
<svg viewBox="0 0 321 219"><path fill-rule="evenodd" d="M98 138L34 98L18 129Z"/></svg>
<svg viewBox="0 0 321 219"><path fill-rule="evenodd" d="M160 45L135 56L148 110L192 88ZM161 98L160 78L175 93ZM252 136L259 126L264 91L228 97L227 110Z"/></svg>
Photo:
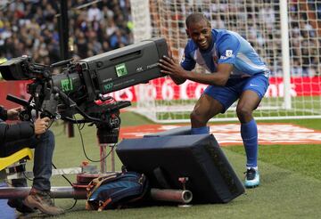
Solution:
<svg viewBox="0 0 321 219"><path fill-rule="evenodd" d="M135 41L165 37L177 61L190 12L203 12L212 28L246 38L272 71L257 119L321 118L321 1L132 0L131 8ZM136 85L136 111L155 122L188 122L206 86L192 81L177 86L169 77ZM235 105L214 118L235 119Z"/></svg>

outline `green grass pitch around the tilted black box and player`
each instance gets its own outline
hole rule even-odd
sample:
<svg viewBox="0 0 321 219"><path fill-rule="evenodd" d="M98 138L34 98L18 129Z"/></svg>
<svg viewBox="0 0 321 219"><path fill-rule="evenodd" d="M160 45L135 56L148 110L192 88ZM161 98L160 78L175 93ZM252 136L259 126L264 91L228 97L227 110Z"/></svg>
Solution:
<svg viewBox="0 0 321 219"><path fill-rule="evenodd" d="M131 112L121 114L122 126L137 126L151 122ZM321 119L282 120L300 126L321 130ZM218 125L219 126L219 125ZM86 160L78 130L68 138L63 126L54 124L56 149L53 163L58 168L79 166ZM95 127L82 130L86 153L99 159ZM245 156L243 147L223 147L235 172L243 180ZM107 165L110 161L107 161ZM30 165L30 164L29 164ZM99 166L99 163L97 163ZM120 169L119 160L116 170ZM259 147L261 185L246 190L245 194L227 204L195 205L192 207L140 207L93 212L85 210L85 200L58 218L320 218L321 215L321 145L264 145ZM30 167L30 166L29 166ZM111 166L107 166L110 168ZM75 182L75 175L68 175ZM202 180L202 179L200 179ZM62 176L53 176L53 186L69 185ZM55 204L65 209L73 199L55 199Z"/></svg>

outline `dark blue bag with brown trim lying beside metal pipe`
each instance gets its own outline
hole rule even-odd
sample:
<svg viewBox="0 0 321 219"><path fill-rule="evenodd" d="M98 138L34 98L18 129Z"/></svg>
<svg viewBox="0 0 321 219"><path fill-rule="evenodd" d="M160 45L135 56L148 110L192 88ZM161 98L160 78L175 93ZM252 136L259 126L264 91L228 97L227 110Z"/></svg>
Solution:
<svg viewBox="0 0 321 219"><path fill-rule="evenodd" d="M114 173L95 178L86 188L87 210L120 208L144 197L148 181L136 172Z"/></svg>

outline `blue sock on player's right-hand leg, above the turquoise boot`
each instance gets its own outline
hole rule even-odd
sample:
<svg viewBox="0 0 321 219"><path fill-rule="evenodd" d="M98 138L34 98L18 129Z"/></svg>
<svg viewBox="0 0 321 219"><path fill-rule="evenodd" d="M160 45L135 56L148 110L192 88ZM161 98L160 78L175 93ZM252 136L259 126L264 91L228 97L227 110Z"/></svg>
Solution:
<svg viewBox="0 0 321 219"><path fill-rule="evenodd" d="M246 166L258 166L258 127L254 119L241 124L241 136L246 152Z"/></svg>

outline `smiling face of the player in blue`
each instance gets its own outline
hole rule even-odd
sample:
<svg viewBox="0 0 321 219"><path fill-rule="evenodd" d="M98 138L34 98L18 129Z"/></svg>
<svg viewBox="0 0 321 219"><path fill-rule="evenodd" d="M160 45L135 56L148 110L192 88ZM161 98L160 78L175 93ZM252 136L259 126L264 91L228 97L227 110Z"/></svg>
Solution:
<svg viewBox="0 0 321 219"><path fill-rule="evenodd" d="M186 29L189 37L198 45L201 50L206 50L211 45L211 31L210 24L206 20L195 22L189 25Z"/></svg>

